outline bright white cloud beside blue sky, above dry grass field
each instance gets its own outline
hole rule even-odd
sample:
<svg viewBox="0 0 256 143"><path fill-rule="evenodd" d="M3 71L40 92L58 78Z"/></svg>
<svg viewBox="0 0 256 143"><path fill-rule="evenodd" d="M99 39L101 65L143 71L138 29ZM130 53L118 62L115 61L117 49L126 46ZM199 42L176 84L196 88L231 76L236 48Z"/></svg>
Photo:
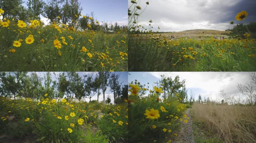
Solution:
<svg viewBox="0 0 256 143"><path fill-rule="evenodd" d="M225 90L230 95L240 95L237 89L238 84L250 82L248 72L150 72L153 76L161 79L161 75L166 77L179 76L180 80L185 80L188 94L190 91L195 94L195 99L201 94L207 98L211 95L214 100L220 100L220 90ZM244 99L244 98L243 98Z"/></svg>

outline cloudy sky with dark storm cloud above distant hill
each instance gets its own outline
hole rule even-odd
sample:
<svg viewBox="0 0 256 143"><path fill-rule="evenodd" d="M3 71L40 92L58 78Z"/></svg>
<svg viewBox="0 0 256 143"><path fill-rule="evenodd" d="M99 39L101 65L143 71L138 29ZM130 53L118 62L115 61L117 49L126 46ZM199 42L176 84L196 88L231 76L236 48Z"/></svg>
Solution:
<svg viewBox="0 0 256 143"><path fill-rule="evenodd" d="M149 5L146 7L146 2ZM128 7L132 3L128 3ZM229 24L242 10L249 14L242 22L255 22L256 0L140 0L140 6L146 9L138 18L138 24L149 29L152 19L153 31L158 26L161 32L185 31L192 29L226 30ZM140 13L142 10L138 10Z"/></svg>

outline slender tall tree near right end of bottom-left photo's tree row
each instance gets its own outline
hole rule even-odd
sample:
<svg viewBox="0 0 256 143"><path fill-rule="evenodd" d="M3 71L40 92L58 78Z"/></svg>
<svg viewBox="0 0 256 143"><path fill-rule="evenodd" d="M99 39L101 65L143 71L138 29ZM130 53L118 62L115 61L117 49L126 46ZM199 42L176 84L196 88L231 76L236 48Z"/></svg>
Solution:
<svg viewBox="0 0 256 143"><path fill-rule="evenodd" d="M114 93L114 103L116 101L117 97L117 92L120 90L120 85L119 85L119 76L120 74L112 73L109 79L109 87L111 91Z"/></svg>

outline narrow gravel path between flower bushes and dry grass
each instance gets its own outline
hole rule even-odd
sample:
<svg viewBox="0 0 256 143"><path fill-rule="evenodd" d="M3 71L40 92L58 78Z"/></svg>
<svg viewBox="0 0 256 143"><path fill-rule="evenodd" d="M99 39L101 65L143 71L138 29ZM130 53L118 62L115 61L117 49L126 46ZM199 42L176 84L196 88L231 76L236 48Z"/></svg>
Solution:
<svg viewBox="0 0 256 143"><path fill-rule="evenodd" d="M182 127L180 129L180 132L177 137L175 137L176 140L173 140L172 143L193 143L193 134L192 134L192 124L191 124L191 115L190 115L190 108L187 109L185 114L187 115L187 118L189 118L188 123L185 124L182 123Z"/></svg>

